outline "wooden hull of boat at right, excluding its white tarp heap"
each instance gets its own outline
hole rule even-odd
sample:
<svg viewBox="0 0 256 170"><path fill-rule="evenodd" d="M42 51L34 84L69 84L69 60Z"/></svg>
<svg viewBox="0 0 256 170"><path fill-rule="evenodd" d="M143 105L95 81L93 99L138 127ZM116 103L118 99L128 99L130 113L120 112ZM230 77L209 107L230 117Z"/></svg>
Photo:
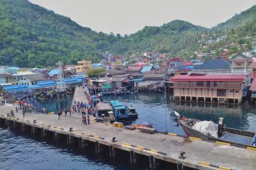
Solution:
<svg viewBox="0 0 256 170"><path fill-rule="evenodd" d="M202 120L185 118L183 115L180 115L177 112L175 113L175 115L188 137L198 137L203 140L225 142L225 143L230 143L233 145L244 146L244 147L254 147L252 146L252 141L253 141L253 138L255 137L255 132L248 132L245 130L227 128L225 127L225 125L223 125L223 118L220 118L220 121L218 124L218 132L217 132L218 137L214 137L209 133L205 134L193 128L193 125L199 122L203 122ZM229 137L233 139L230 140ZM239 138L242 140L246 140L247 143L240 142Z"/></svg>

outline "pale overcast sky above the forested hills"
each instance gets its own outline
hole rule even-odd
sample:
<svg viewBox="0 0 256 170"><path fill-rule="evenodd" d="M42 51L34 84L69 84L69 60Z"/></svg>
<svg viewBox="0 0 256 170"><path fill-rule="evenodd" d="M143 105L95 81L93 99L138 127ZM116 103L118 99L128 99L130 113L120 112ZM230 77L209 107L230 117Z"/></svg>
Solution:
<svg viewBox="0 0 256 170"><path fill-rule="evenodd" d="M256 0L29 0L97 32L132 34L175 19L210 28Z"/></svg>

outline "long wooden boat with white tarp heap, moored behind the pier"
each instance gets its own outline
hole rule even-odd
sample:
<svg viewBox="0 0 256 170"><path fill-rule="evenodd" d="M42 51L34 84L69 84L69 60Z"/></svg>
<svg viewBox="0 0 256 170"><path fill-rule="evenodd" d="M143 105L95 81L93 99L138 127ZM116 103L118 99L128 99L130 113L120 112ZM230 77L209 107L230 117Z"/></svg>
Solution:
<svg viewBox="0 0 256 170"><path fill-rule="evenodd" d="M198 137L203 140L225 142L244 147L254 147L253 142L255 132L227 128L223 125L223 118L220 118L217 125L213 123L213 121L185 118L177 112L174 113L188 137Z"/></svg>

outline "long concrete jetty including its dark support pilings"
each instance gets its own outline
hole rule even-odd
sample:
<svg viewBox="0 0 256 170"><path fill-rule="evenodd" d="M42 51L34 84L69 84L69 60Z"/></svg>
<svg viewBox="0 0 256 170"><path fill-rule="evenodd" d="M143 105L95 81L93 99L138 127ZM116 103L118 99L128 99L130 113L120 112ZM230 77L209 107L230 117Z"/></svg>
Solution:
<svg viewBox="0 0 256 170"><path fill-rule="evenodd" d="M113 125L92 122L82 124L81 118L68 115L26 113L21 111L9 116L13 105L0 106L1 127L31 132L41 137L61 140L67 146L95 147L101 154L107 151L110 157L126 152L131 164L139 163L139 157L148 157L150 169L161 162L181 169L255 169L256 149L235 147L228 143L206 142L196 137L179 137L176 134L156 132L148 134L139 130L126 130ZM104 152L104 153L105 153ZM183 154L185 153L185 154ZM185 157L182 157L182 155ZM183 158L183 159L182 159Z"/></svg>

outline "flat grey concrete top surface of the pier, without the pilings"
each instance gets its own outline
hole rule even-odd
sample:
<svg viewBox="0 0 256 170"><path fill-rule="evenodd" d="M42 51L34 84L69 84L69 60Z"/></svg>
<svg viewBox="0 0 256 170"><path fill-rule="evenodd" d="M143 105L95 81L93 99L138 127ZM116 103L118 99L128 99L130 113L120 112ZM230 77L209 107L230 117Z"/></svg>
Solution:
<svg viewBox="0 0 256 170"><path fill-rule="evenodd" d="M161 133L146 134L139 130L125 130L124 128L115 128L113 125L105 126L104 123L94 123L93 121L91 121L90 125L84 125L80 118L69 115L62 115L58 120L58 115L26 113L26 117L23 118L21 111L19 111L19 113L16 113L15 118L10 118L6 116L6 113L10 109L14 109L14 106L0 106L0 109L0 120L11 120L28 127L82 138L82 140L97 142L100 145L112 146L127 152L132 151L149 156L149 159L153 157L153 159L161 159L174 164L181 163L183 166L194 169L217 169L213 166L207 166L207 164L203 166L198 162L208 162L209 164L227 167L226 169L250 170L255 169L256 166L256 150L253 150L253 148L250 150L218 145L213 142ZM37 123L33 123L33 120L37 120ZM73 128L74 131L69 132L70 128ZM104 139L100 139L100 137ZM117 137L117 142L112 142L112 137ZM166 155L159 154L156 151L164 152ZM178 159L181 151L186 152L186 159Z"/></svg>

